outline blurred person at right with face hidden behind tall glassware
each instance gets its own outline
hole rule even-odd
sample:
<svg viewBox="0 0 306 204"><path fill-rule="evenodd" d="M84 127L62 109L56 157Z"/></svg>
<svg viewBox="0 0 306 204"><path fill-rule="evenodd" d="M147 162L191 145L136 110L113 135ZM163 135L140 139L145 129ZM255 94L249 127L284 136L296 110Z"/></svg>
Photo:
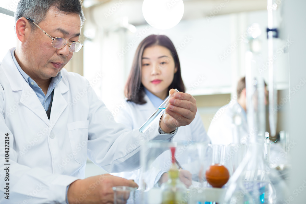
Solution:
<svg viewBox="0 0 306 204"><path fill-rule="evenodd" d="M265 83L266 106L268 104L267 97L268 91L267 84ZM232 99L228 104L218 109L217 113L211 121L211 124L209 125L207 134L210 137L212 144L248 144L247 140L249 132L246 115L246 103L245 77L242 77L237 83L237 100ZM237 131L239 131L239 136L237 134ZM282 148L279 144L273 143L270 147L270 161L275 160L275 164L287 163L287 156L282 158L279 157L280 152L282 151Z"/></svg>

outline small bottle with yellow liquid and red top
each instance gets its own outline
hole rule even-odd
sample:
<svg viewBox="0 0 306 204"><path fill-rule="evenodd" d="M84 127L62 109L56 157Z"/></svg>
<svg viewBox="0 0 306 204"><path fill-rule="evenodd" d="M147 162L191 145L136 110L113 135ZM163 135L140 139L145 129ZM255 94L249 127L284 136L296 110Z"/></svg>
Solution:
<svg viewBox="0 0 306 204"><path fill-rule="evenodd" d="M179 179L178 167L175 164L175 147L170 147L172 154L172 165L168 172L169 179L161 186L162 204L187 204L187 189Z"/></svg>

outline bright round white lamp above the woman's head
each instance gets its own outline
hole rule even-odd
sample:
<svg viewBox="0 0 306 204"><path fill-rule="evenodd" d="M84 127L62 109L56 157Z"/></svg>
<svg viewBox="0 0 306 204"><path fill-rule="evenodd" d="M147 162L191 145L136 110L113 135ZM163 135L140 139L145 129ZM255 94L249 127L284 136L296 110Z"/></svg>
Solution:
<svg viewBox="0 0 306 204"><path fill-rule="evenodd" d="M184 3L182 0L144 0L142 13L152 27L169 29L182 19Z"/></svg>

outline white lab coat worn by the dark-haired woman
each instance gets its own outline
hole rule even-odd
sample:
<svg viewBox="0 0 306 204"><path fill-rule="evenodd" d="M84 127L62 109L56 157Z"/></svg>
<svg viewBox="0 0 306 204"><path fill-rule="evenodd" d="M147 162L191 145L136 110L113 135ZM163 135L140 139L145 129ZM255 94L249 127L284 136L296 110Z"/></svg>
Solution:
<svg viewBox="0 0 306 204"><path fill-rule="evenodd" d="M140 128L144 122L152 115L152 113L155 112L156 108L150 101L149 97L147 95L144 96L145 101L147 103L143 105L136 104L134 102L126 102L124 107L115 115L115 120L119 123L125 124L126 127L130 130L134 128ZM206 130L204 128L203 122L201 120L200 114L196 113L195 119L191 122L191 124L179 127L177 130L177 134L172 139L173 142L203 142L203 143L210 143L210 139L206 134ZM188 155L185 155L188 156ZM180 155L177 160L180 162L183 155ZM145 174L150 175L150 178L142 178L143 168L140 168L138 170L132 171L132 172L121 172L121 173L113 173L115 176L120 176L127 179L133 179L135 182L142 187L142 179L145 179L146 183L146 189L152 188L156 182L159 180L161 173L169 170L170 166L166 165L168 169L163 169L163 171L160 171L160 166L164 166L166 161L170 161L170 153L164 152L161 154L157 160L154 161L154 164L156 165L153 167L153 164L151 166L150 172ZM181 163L181 162L180 162ZM183 166L183 169L190 170L192 172L192 168L195 166L185 166L184 163L181 163ZM198 173L198 172L197 172Z"/></svg>

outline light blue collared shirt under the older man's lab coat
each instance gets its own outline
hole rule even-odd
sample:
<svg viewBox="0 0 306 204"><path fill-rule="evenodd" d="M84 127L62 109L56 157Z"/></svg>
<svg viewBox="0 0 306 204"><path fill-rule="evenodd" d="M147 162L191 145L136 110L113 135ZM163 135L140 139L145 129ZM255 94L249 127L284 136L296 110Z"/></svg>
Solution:
<svg viewBox="0 0 306 204"><path fill-rule="evenodd" d="M13 50L12 54L12 58L13 61L17 67L17 69L19 70L19 72L21 73L21 75L23 76L23 78L25 79L25 81L30 85L30 87L33 89L33 91L35 92L35 94L37 95L39 101L41 102L41 104L43 105L43 108L47 111L51 102L51 93L54 89L54 87L56 86L56 84L58 84L61 80L62 80L62 74L61 72L58 72L58 75L56 75L55 77L52 78L47 94L45 95L43 93L43 90L37 85L37 83L31 79L31 77L29 75L27 75L23 69L21 69L21 67L19 66L16 58L15 58L15 50Z"/></svg>

